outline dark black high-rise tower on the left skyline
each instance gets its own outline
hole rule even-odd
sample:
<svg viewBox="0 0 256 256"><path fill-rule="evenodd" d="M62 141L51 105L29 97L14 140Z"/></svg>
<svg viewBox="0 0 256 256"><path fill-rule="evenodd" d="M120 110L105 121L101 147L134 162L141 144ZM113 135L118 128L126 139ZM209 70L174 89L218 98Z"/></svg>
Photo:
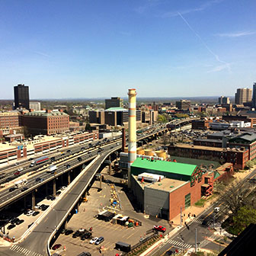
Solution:
<svg viewBox="0 0 256 256"><path fill-rule="evenodd" d="M29 110L29 91L28 86L14 86L14 109L23 107Z"/></svg>

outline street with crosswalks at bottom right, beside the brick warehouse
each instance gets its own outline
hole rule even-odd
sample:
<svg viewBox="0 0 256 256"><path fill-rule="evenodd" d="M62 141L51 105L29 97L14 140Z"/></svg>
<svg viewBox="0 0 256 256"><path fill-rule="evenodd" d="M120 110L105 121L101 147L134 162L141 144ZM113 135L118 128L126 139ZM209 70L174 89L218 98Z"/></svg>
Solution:
<svg viewBox="0 0 256 256"><path fill-rule="evenodd" d="M254 169L254 171L251 171L246 179L248 180L250 178L254 178L255 175L256 169ZM174 251L176 249L178 251L182 251L182 249L195 248L196 229L197 245L199 245L200 248L207 248L216 251L224 248L222 245L210 242L208 239L206 239L213 238L213 240L215 240L219 237L218 235L213 235L213 233L210 232L210 230L208 229L208 227L213 224L213 219L222 219L221 212L214 213L214 208L217 206L223 207L221 198L217 200L216 203L213 203L210 208L206 209L203 213L197 216L192 222L189 222L189 229L187 229L186 226L183 226L176 234L171 236L171 238L169 238L167 242L163 243L158 248L155 248L155 250L148 254L148 256L164 255L165 251L168 250Z"/></svg>

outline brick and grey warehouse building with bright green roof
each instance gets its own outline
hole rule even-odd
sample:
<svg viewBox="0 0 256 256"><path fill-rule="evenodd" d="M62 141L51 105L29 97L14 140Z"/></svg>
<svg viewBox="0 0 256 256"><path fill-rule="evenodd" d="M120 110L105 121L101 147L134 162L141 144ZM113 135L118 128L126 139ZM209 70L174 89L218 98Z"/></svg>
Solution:
<svg viewBox="0 0 256 256"><path fill-rule="evenodd" d="M131 174L131 188L140 209L162 219L173 219L200 200L203 191L213 189L210 180L214 177L209 179L210 174L203 174L197 165L136 158Z"/></svg>

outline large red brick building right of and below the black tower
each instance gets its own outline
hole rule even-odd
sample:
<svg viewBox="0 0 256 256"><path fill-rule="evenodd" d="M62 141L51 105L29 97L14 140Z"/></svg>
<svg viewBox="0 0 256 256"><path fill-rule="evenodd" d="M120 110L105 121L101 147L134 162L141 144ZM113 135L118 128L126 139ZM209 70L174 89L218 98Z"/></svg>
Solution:
<svg viewBox="0 0 256 256"><path fill-rule="evenodd" d="M69 115L62 110L31 111L22 117L23 125L32 135L64 133L69 130Z"/></svg>

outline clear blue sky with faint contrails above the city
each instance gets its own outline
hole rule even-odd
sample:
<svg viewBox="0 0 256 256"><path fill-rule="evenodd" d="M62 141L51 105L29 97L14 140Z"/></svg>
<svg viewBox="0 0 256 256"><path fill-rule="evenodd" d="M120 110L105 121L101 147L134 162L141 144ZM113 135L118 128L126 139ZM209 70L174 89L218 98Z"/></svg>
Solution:
<svg viewBox="0 0 256 256"><path fill-rule="evenodd" d="M233 95L256 82L255 0L0 0L0 98Z"/></svg>

